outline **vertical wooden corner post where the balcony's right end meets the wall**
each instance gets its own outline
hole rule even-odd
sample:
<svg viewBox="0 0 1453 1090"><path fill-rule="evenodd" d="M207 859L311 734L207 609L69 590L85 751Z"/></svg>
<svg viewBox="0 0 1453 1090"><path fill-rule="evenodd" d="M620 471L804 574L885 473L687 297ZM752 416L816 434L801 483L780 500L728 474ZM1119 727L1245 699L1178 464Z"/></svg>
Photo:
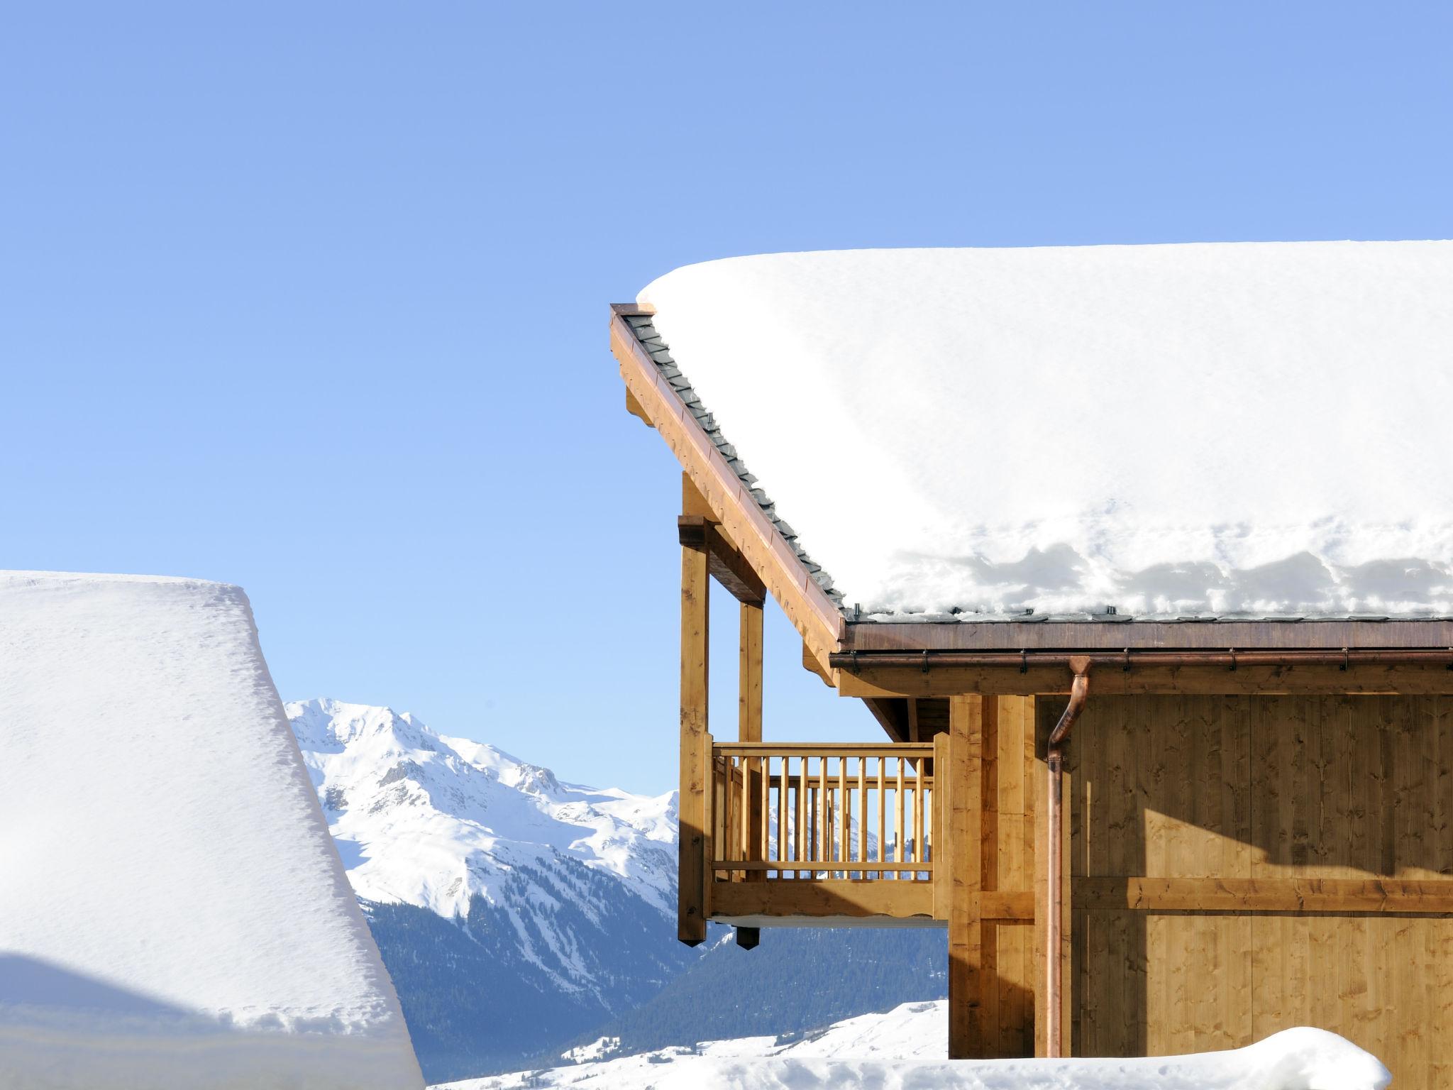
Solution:
<svg viewBox="0 0 1453 1090"><path fill-rule="evenodd" d="M949 1059L984 1055L981 969L984 929L979 920L982 889L982 751L985 705L992 698L949 699L947 857L949 885ZM989 711L992 714L992 711Z"/></svg>

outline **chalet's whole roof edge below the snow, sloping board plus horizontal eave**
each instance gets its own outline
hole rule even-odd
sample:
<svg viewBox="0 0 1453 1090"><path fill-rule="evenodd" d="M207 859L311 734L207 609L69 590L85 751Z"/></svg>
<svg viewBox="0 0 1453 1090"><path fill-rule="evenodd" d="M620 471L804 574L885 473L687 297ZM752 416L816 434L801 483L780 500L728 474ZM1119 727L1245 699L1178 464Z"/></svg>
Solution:
<svg viewBox="0 0 1453 1090"><path fill-rule="evenodd" d="M628 410L665 439L716 520L681 519L683 542L716 541L715 574L742 600L770 593L805 664L843 696L1065 693L1071 655L1098 664L1097 693L1453 692L1453 619L1441 618L849 622L641 343L629 318L651 310L610 311Z"/></svg>

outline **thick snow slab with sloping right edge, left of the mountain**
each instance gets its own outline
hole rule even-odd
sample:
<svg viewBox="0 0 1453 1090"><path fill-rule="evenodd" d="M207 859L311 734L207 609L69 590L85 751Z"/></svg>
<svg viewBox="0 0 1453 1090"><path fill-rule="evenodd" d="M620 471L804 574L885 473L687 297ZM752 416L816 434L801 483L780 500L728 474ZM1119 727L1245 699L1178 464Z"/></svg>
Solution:
<svg viewBox="0 0 1453 1090"><path fill-rule="evenodd" d="M420 1087L237 587L0 573L0 1084Z"/></svg>

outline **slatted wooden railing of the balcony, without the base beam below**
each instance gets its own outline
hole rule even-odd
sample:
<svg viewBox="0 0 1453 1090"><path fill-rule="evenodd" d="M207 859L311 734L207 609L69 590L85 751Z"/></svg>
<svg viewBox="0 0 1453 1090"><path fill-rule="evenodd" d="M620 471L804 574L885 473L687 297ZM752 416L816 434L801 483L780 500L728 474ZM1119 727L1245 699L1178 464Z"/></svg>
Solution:
<svg viewBox="0 0 1453 1090"><path fill-rule="evenodd" d="M715 743L708 882L933 878L930 743Z"/></svg>

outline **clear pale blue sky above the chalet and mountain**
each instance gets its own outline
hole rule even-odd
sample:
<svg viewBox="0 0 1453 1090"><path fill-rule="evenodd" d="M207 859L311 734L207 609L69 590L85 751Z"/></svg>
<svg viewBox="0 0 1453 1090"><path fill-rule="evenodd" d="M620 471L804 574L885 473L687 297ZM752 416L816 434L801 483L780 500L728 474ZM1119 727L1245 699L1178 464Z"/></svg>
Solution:
<svg viewBox="0 0 1453 1090"><path fill-rule="evenodd" d="M241 583L285 698L668 789L679 477L606 304L773 250L1446 238L1450 41L1449 4L12 6L0 567ZM873 737L767 641L769 737Z"/></svg>

